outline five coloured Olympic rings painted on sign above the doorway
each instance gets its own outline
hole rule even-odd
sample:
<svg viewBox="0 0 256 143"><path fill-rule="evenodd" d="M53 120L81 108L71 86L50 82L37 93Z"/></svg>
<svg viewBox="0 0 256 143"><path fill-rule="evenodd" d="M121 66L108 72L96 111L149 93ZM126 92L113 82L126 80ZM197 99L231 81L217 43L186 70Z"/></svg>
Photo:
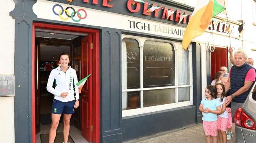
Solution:
<svg viewBox="0 0 256 143"><path fill-rule="evenodd" d="M59 13L56 13L55 10L54 10L54 8L57 7L57 6L61 8L61 10L59 11ZM72 9L72 10L73 10L73 12L71 13L71 15L69 14L68 9ZM72 8L72 7L67 7L66 9L63 9L63 7L62 7L61 5L59 5L59 4L53 5L52 11L53 11L53 13L54 13L55 15L59 16L60 19L62 19L62 20L68 20L69 18L71 18L74 22L80 22L81 19L85 19L85 18L87 17L86 11L85 11L84 9L82 9L82 8L78 9L78 11L75 11L75 9ZM63 17L61 16L61 15L64 13L64 11L65 11L65 14L67 15L67 18L63 18ZM81 14L79 13L80 11L83 11L83 12L85 13L85 16L84 16L83 18L81 17ZM74 19L74 17L75 17L76 15L77 15L78 18L79 18L78 20L75 20L75 19Z"/></svg>

